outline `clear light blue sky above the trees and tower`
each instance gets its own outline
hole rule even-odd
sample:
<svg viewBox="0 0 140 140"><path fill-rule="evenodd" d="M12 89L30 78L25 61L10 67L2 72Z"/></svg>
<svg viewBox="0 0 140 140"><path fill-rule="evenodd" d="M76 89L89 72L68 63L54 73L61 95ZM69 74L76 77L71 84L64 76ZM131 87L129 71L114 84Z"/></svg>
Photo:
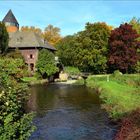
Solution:
<svg viewBox="0 0 140 140"><path fill-rule="evenodd" d="M0 21L11 9L21 26L44 30L49 24L61 29L61 35L84 30L87 22L106 22L118 27L133 17L140 18L139 0L0 0Z"/></svg>

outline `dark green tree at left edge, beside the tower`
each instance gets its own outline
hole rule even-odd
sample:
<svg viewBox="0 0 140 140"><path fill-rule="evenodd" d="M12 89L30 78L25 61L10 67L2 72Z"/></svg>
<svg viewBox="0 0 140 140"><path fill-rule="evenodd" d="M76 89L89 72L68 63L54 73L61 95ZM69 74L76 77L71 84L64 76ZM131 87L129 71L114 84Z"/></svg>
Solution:
<svg viewBox="0 0 140 140"><path fill-rule="evenodd" d="M8 48L9 35L5 24L0 22L0 53L4 53Z"/></svg>

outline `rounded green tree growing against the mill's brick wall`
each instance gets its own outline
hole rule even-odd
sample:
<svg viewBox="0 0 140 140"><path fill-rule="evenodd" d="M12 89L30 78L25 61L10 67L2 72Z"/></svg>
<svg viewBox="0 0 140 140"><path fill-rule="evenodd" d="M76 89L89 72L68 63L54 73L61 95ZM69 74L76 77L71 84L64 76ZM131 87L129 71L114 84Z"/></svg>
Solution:
<svg viewBox="0 0 140 140"><path fill-rule="evenodd" d="M52 52L42 49L39 52L37 61L37 71L42 75L43 78L49 77L58 71L55 65L55 56Z"/></svg>

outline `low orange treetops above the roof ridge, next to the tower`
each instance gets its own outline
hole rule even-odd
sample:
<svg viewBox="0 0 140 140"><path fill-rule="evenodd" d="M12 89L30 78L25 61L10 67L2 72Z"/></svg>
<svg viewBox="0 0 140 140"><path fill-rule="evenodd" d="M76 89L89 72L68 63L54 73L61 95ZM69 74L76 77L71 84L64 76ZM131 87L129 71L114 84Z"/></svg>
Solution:
<svg viewBox="0 0 140 140"><path fill-rule="evenodd" d="M21 31L32 31L42 37L42 30L34 26L22 26Z"/></svg>

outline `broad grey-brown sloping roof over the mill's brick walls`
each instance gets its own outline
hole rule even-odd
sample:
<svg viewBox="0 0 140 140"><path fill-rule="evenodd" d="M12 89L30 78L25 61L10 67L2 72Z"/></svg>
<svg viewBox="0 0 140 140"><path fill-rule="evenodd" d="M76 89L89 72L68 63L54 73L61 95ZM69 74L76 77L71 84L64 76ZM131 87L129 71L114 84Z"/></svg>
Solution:
<svg viewBox="0 0 140 140"><path fill-rule="evenodd" d="M56 51L56 48L49 43L43 41L43 39L32 31L17 31L9 33L9 48L46 48Z"/></svg>

